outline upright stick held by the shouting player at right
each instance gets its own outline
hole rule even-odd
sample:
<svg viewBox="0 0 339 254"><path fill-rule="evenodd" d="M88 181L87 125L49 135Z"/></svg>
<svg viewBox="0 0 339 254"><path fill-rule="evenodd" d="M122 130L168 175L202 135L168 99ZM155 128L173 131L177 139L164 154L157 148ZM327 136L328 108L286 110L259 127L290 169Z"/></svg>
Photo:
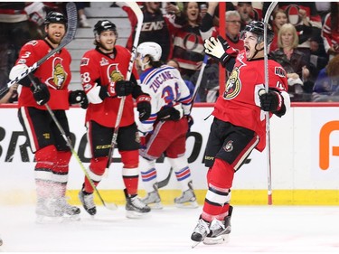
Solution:
<svg viewBox="0 0 339 254"><path fill-rule="evenodd" d="M268 10L264 17L264 64L265 64L265 91L268 92L268 20L273 13L278 2L272 2L268 6ZM268 205L272 201L272 166L270 158L270 134L269 134L269 112L265 113L266 118L266 149L267 149L267 165L268 165Z"/></svg>

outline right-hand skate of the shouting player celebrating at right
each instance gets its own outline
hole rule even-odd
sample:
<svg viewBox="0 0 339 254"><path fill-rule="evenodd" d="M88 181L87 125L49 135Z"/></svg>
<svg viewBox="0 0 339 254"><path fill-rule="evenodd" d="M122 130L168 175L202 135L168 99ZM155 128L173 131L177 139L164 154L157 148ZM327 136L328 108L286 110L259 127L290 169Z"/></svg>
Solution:
<svg viewBox="0 0 339 254"><path fill-rule="evenodd" d="M214 219L210 225L210 233L203 240L203 244L214 245L230 241L231 233L231 213L233 207L230 206L229 214L224 221Z"/></svg>

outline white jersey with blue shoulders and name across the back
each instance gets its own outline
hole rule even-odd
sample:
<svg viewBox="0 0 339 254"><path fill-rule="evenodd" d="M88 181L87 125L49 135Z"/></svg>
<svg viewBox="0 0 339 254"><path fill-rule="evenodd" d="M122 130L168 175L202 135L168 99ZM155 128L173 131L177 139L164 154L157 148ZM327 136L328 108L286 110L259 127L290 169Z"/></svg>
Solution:
<svg viewBox="0 0 339 254"><path fill-rule="evenodd" d="M192 104L190 90L174 67L163 65L159 68L146 69L140 75L141 88L151 96L151 117L137 122L143 133L153 131L156 113L164 107L183 108L184 115L189 115Z"/></svg>

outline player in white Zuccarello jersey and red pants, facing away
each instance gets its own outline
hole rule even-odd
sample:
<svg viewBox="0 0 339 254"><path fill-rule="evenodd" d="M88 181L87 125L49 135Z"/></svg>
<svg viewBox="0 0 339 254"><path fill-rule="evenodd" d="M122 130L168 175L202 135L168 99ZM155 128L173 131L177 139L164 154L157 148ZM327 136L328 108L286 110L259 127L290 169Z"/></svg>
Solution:
<svg viewBox="0 0 339 254"><path fill-rule="evenodd" d="M142 200L153 209L161 209L157 190L155 160L161 155L168 158L183 191L174 199L177 207L198 207L193 192L191 170L184 155L186 134L189 130L192 97L180 72L162 65L162 49L155 42L143 42L137 47L137 64L141 87L151 96L151 117L137 122L141 133L139 169L146 189Z"/></svg>

